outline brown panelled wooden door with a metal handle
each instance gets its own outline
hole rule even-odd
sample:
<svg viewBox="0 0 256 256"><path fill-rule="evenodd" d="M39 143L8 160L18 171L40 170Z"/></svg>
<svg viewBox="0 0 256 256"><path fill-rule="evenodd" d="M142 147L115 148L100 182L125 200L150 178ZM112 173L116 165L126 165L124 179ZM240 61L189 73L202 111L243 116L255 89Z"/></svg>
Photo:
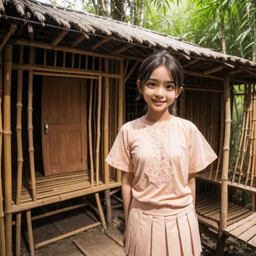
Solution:
<svg viewBox="0 0 256 256"><path fill-rule="evenodd" d="M84 79L43 77L42 147L46 176L87 169Z"/></svg>

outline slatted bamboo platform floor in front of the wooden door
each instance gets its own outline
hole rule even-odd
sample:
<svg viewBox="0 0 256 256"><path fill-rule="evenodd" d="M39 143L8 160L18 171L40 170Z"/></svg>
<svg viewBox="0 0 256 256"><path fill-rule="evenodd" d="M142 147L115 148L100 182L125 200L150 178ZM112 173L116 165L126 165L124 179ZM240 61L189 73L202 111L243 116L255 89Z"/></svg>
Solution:
<svg viewBox="0 0 256 256"><path fill-rule="evenodd" d="M33 201L30 176L24 176L20 205L15 204L17 177L14 177L12 182L12 212L28 210L121 185L121 183L111 179L110 183L106 185L104 184L104 177L99 176L98 186L96 186L96 178L94 179L93 186L91 186L90 173L91 170L87 170L44 177L36 172L37 201Z"/></svg>

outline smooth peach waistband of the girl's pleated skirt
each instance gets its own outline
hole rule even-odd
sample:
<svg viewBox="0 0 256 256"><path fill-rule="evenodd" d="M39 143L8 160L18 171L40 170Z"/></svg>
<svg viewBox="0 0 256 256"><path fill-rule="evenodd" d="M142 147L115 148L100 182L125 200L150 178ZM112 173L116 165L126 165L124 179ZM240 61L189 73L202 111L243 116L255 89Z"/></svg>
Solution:
<svg viewBox="0 0 256 256"><path fill-rule="evenodd" d="M185 207L173 207L169 205L163 206L163 205L153 205L149 203L144 203L133 198L131 206L141 212L144 212L145 214L157 215L157 216L170 216L170 215L176 215L186 211L188 208L193 206L193 203Z"/></svg>

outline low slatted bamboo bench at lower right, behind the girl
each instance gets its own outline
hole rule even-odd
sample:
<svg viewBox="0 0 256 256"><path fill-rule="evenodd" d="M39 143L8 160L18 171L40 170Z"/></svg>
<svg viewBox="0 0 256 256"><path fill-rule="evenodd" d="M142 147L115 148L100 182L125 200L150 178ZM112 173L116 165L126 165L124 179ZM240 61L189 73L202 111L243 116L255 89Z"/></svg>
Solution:
<svg viewBox="0 0 256 256"><path fill-rule="evenodd" d="M202 233L215 241L218 239L220 221L220 194L209 192L196 199L196 212ZM256 248L256 213L242 206L228 202L227 228L224 233Z"/></svg>

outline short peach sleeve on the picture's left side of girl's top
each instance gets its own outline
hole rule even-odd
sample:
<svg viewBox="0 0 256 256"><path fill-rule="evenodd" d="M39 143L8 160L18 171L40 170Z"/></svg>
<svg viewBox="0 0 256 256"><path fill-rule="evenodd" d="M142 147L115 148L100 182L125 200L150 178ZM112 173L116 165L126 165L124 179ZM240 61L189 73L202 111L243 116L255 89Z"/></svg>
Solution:
<svg viewBox="0 0 256 256"><path fill-rule="evenodd" d="M130 146L128 143L129 131L124 126L117 134L117 138L105 161L116 169L133 172Z"/></svg>

